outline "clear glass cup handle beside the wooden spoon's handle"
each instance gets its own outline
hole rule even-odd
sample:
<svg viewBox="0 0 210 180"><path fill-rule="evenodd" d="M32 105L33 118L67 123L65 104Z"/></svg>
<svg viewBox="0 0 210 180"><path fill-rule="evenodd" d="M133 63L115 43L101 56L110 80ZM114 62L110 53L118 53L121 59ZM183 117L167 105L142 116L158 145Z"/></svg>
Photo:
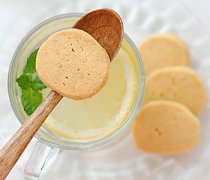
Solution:
<svg viewBox="0 0 210 180"><path fill-rule="evenodd" d="M58 148L49 147L37 141L35 148L24 168L25 179L39 179L43 169L56 159L60 151L61 150Z"/></svg>

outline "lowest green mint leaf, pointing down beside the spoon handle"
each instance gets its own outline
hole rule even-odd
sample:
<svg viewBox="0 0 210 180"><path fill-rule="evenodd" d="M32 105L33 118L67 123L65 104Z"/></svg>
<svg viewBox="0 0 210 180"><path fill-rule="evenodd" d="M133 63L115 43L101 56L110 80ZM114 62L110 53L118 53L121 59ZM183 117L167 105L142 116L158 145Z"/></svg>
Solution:
<svg viewBox="0 0 210 180"><path fill-rule="evenodd" d="M42 94L32 88L22 90L21 103L27 115L31 115L42 102Z"/></svg>

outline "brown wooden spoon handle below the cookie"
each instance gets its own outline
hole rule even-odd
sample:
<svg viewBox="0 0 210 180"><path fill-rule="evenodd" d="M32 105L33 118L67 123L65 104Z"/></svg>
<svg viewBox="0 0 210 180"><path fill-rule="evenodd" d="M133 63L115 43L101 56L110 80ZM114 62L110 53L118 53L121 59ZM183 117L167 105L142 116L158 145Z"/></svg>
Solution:
<svg viewBox="0 0 210 180"><path fill-rule="evenodd" d="M23 126L0 150L0 179L5 179L28 143L63 96L51 91Z"/></svg>

